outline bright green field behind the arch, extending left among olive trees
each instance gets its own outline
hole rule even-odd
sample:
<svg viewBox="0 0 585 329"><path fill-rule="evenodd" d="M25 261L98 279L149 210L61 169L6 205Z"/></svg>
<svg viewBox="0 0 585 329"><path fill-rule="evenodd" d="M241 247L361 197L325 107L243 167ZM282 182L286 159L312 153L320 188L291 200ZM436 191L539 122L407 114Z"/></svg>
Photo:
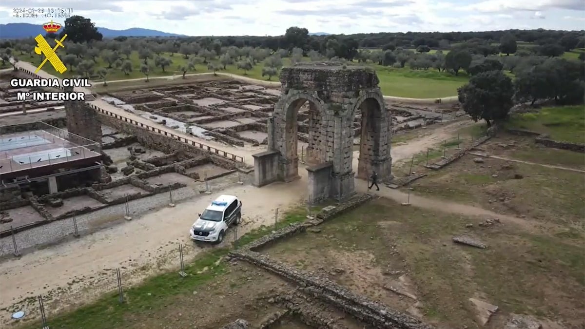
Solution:
<svg viewBox="0 0 585 329"><path fill-rule="evenodd" d="M168 58L173 60L170 67L167 67L165 71L160 67L154 67L154 62L149 60L150 66L150 77L158 76L170 76L172 74L182 74L177 70L180 65L187 64L188 60L185 60L180 54L175 54ZM19 60L28 61L35 65L40 64L41 57L31 57L29 54L18 54ZM308 59L307 59L308 60ZM133 71L126 76L122 71L112 69L106 77L107 81L112 80L123 80L133 78L146 78L143 73L140 72L140 66L143 61L138 58L138 54L133 52L130 55L130 61L132 61ZM283 59L284 65L290 64L289 59ZM100 58L97 58L96 68L108 67L108 64ZM267 77L262 77L262 63L256 64L246 72L246 77L255 78L258 80L268 80ZM384 95L390 95L395 97L408 97L408 98L439 98L439 97L450 97L457 94L457 88L461 87L467 82L467 77L460 76L455 77L452 74L440 73L436 70L418 71L410 70L409 68L389 68L384 66L373 66L376 69L378 78L380 79L380 88ZM43 70L47 73L58 75L54 68L49 64L43 66ZM95 70L97 71L97 69ZM207 64L199 64L195 67L195 71L189 71L187 73L206 73L209 72ZM244 75L243 70L239 70L235 65L226 66L226 70L222 70L225 73L232 73L238 75ZM67 70L64 76L71 77L75 76L75 70ZM277 81L278 77L272 77L271 80ZM97 81L95 81L97 82Z"/></svg>

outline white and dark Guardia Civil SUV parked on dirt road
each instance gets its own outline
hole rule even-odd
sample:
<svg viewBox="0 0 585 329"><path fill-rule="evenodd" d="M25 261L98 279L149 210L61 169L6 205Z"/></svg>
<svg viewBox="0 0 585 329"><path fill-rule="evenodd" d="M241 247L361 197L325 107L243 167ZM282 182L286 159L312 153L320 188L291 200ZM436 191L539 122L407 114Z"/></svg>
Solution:
<svg viewBox="0 0 585 329"><path fill-rule="evenodd" d="M219 244L223 241L229 225L238 225L241 220L242 201L235 196L219 196L211 201L193 223L190 230L191 239Z"/></svg>

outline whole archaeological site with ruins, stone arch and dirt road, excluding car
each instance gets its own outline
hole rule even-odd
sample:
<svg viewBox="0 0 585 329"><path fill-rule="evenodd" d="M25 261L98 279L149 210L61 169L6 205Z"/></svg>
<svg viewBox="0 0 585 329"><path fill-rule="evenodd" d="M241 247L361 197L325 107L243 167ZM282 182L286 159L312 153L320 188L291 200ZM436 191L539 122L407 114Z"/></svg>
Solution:
<svg viewBox="0 0 585 329"><path fill-rule="evenodd" d="M522 206L550 174L536 170L560 166L512 159L558 145L490 135L457 103L395 100L379 83L369 68L312 63L282 68L280 88L209 78L34 104L3 76L0 266L15 288L0 292L0 321L578 328L576 244L532 235L575 238L576 213L553 222ZM555 177L579 181L576 162ZM242 201L242 222L219 245L195 243L191 225L220 195ZM536 292L511 273L558 286Z"/></svg>

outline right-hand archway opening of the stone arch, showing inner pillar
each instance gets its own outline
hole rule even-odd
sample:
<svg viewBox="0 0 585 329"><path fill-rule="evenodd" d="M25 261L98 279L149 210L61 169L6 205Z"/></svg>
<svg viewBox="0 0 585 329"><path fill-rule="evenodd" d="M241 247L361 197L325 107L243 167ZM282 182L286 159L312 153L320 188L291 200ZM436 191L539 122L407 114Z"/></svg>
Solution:
<svg viewBox="0 0 585 329"><path fill-rule="evenodd" d="M358 107L361 118L357 177L360 179L369 179L374 170L378 176L386 174L385 170L380 172L376 167L376 160L385 155L387 147L384 138L388 126L383 106L375 98L366 98Z"/></svg>

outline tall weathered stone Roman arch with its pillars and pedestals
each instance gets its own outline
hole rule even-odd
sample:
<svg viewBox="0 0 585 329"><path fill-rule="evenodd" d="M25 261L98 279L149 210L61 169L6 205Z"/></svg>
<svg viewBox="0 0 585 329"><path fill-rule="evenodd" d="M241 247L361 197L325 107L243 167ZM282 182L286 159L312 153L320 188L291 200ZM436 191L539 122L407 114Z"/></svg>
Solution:
<svg viewBox="0 0 585 329"><path fill-rule="evenodd" d="M257 186L298 175L298 109L309 102L307 155L316 165L309 172L309 197L345 198L355 193L352 160L354 121L361 114L361 146L357 174L366 179L376 170L391 176L390 115L378 87L376 72L337 63L285 67L281 97L268 121L269 150L254 155Z"/></svg>

